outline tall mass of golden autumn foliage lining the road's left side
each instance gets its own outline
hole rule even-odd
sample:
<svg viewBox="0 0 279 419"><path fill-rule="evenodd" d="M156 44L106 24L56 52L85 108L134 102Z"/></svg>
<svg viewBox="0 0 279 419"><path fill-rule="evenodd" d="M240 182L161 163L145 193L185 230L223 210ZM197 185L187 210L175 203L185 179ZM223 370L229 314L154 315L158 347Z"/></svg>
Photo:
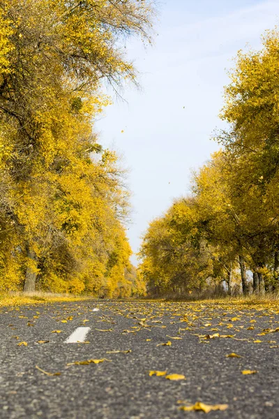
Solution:
<svg viewBox="0 0 279 419"><path fill-rule="evenodd" d="M123 45L152 18L151 1L1 1L0 291L144 292L125 173L93 122L103 82L135 81Z"/></svg>

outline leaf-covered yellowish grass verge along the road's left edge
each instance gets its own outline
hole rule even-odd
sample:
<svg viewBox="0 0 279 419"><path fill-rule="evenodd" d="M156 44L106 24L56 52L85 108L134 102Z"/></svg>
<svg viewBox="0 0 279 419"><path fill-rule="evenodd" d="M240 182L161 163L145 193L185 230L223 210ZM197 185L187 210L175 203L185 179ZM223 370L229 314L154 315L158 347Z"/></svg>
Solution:
<svg viewBox="0 0 279 419"><path fill-rule="evenodd" d="M17 291L0 294L0 307L84 300L94 300L94 297L89 295L80 296L73 294L43 293L41 291L35 293L22 293Z"/></svg>

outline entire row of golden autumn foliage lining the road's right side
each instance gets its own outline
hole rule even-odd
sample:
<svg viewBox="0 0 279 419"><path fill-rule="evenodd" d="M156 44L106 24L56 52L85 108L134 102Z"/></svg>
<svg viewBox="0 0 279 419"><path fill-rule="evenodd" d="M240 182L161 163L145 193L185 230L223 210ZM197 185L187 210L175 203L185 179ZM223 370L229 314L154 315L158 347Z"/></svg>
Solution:
<svg viewBox="0 0 279 419"><path fill-rule="evenodd" d="M276 291L279 279L279 32L240 51L216 134L222 149L193 174L144 235L139 272L149 293Z"/></svg>

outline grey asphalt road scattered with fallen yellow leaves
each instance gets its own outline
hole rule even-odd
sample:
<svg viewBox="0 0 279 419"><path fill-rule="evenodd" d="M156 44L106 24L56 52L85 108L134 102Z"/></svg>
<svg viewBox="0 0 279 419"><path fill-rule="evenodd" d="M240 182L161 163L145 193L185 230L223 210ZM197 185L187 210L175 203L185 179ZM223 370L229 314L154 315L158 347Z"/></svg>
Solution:
<svg viewBox="0 0 279 419"><path fill-rule="evenodd" d="M275 304L38 304L2 308L0 323L1 419L279 418ZM89 328L85 342L65 343L77 328ZM149 376L151 370L186 378ZM228 406L179 409L196 402Z"/></svg>

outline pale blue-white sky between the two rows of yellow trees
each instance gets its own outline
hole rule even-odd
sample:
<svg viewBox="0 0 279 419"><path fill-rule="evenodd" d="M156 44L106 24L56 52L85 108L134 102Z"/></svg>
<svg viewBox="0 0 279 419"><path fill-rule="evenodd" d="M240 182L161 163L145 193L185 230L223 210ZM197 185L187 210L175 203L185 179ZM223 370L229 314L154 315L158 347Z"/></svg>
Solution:
<svg viewBox="0 0 279 419"><path fill-rule="evenodd" d="M218 115L237 51L258 49L278 23L279 1L162 0L153 46L128 43L141 89L114 97L96 129L129 170L135 253L149 222L189 193L191 172L219 148L211 137L224 128Z"/></svg>

